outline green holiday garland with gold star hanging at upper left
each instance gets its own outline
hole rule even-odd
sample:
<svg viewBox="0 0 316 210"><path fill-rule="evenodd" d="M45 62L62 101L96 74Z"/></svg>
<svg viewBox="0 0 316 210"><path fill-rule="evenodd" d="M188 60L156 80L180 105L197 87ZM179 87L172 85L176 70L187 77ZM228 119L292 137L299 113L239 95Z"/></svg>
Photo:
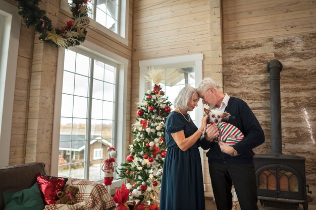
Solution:
<svg viewBox="0 0 316 210"><path fill-rule="evenodd" d="M70 5L72 19L62 28L53 28L51 20L46 12L38 7L42 0L15 0L18 3L19 14L22 16L25 26L34 27L40 33L39 39L46 43L56 44L59 47L68 48L80 45L87 35L87 27L90 25L88 0L73 0Z"/></svg>

